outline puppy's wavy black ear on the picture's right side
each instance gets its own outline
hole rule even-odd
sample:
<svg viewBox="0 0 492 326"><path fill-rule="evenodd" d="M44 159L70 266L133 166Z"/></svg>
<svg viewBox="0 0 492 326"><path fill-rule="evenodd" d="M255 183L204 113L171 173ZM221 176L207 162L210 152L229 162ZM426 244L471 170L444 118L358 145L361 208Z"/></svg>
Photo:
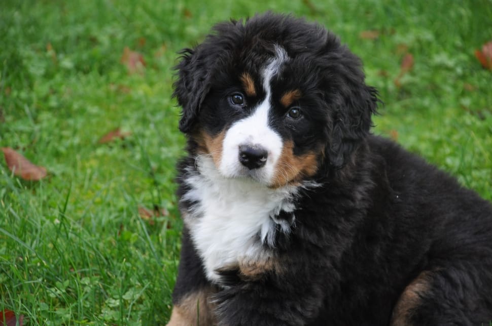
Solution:
<svg viewBox="0 0 492 326"><path fill-rule="evenodd" d="M361 60L346 47L341 46L342 55L329 59L329 99L333 102L332 128L327 148L330 164L339 169L349 161L352 153L369 134L372 115L376 113L377 91L365 84ZM333 94L335 93L335 94Z"/></svg>

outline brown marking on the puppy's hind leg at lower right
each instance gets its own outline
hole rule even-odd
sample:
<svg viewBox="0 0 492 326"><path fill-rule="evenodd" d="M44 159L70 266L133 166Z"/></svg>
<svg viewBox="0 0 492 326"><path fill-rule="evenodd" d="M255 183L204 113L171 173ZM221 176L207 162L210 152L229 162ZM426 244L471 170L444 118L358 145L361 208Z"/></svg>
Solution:
<svg viewBox="0 0 492 326"><path fill-rule="evenodd" d="M430 272L421 272L403 290L398 302L393 309L391 326L411 326L410 317L413 309L418 307L421 297L429 290Z"/></svg>

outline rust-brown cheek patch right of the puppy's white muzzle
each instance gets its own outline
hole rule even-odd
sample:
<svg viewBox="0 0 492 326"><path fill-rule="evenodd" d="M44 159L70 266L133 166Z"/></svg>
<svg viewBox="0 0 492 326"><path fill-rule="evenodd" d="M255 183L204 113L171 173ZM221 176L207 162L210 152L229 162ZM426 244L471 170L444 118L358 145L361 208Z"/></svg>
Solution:
<svg viewBox="0 0 492 326"><path fill-rule="evenodd" d="M270 187L278 188L296 184L305 177L313 176L318 171L318 157L319 153L314 151L296 156L294 155L294 143L286 142L275 166L275 174Z"/></svg>

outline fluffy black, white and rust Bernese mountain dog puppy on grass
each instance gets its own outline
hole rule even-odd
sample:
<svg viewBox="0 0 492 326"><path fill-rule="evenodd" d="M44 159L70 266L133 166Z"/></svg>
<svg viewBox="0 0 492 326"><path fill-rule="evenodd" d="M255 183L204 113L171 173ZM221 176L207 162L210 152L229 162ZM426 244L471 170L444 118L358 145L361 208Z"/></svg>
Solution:
<svg viewBox="0 0 492 326"><path fill-rule="evenodd" d="M377 92L335 35L256 15L177 69L169 325L489 324L492 205L370 133Z"/></svg>

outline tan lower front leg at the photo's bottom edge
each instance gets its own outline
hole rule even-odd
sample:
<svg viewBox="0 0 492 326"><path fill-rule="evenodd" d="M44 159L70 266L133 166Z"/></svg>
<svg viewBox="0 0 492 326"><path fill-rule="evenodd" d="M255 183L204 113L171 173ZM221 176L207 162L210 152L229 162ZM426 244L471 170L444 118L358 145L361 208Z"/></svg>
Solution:
<svg viewBox="0 0 492 326"><path fill-rule="evenodd" d="M216 324L215 305L210 302L212 290L191 293L172 308L167 326L212 326Z"/></svg>

